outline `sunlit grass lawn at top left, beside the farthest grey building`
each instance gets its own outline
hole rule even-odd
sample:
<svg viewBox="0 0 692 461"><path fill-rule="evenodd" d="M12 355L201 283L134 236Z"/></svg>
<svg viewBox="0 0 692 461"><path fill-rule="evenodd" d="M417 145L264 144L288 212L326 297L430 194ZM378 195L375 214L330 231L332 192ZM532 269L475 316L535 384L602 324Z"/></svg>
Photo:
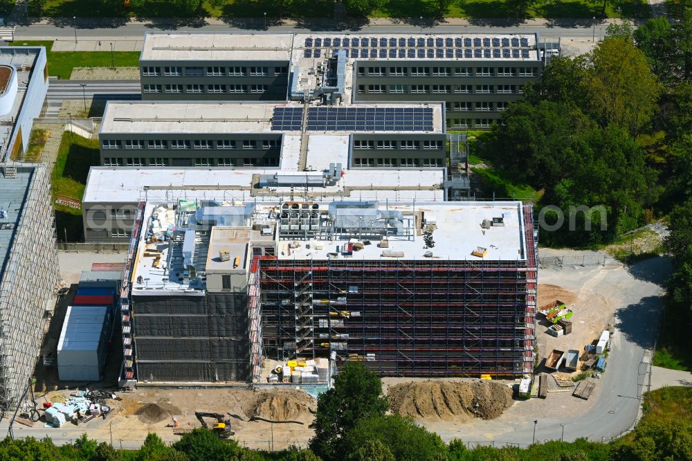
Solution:
<svg viewBox="0 0 692 461"><path fill-rule="evenodd" d="M110 67L110 51L51 51L50 40L19 40L10 46L45 46L48 59L48 74L57 78L69 79L75 67ZM115 51L113 63L116 67L139 67L139 51Z"/></svg>

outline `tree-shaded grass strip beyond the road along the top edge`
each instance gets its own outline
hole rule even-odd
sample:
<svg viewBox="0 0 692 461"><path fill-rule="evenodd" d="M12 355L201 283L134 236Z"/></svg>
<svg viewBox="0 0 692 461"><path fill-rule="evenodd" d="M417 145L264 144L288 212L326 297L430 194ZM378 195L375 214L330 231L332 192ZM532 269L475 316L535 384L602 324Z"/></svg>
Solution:
<svg viewBox="0 0 692 461"><path fill-rule="evenodd" d="M268 0L203 0L199 11L191 12L172 6L170 1L132 1L125 8L122 0L46 0L42 15L48 17L331 17L334 3L328 0L293 0L285 2ZM594 0L541 0L529 8L528 17L590 18L602 17L603 1ZM648 17L650 8L644 0L623 3L620 10L612 4L605 9L608 17ZM439 17L434 0L390 0L376 17ZM514 17L507 10L504 0L454 0L445 17L504 18Z"/></svg>

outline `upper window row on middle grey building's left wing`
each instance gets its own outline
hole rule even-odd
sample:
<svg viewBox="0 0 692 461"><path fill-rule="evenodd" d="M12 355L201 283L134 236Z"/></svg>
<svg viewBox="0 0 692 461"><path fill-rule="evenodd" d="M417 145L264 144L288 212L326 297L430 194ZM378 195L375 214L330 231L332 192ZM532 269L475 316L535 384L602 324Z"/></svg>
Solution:
<svg viewBox="0 0 692 461"><path fill-rule="evenodd" d="M278 149L280 139L104 139L101 141L104 149Z"/></svg>

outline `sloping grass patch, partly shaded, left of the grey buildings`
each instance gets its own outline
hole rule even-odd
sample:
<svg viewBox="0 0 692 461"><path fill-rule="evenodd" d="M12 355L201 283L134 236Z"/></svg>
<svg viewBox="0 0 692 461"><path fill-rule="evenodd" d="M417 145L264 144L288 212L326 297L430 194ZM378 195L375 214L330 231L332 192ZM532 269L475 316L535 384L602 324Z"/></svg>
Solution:
<svg viewBox="0 0 692 461"><path fill-rule="evenodd" d="M98 165L98 147L98 139L86 139L72 132L64 132L51 173L54 204L58 195L82 200L89 168ZM64 241L67 233L68 242L80 242L84 233L82 210L55 204L55 227L59 240Z"/></svg>

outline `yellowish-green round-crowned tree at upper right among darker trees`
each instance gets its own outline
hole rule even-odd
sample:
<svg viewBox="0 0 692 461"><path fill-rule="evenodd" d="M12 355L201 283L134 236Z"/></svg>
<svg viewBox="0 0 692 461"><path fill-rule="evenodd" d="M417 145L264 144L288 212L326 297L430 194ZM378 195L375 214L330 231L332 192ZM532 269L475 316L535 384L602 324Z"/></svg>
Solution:
<svg viewBox="0 0 692 461"><path fill-rule="evenodd" d="M588 55L583 84L603 126L612 123L637 133L657 107L659 82L629 39L610 37L599 44Z"/></svg>

